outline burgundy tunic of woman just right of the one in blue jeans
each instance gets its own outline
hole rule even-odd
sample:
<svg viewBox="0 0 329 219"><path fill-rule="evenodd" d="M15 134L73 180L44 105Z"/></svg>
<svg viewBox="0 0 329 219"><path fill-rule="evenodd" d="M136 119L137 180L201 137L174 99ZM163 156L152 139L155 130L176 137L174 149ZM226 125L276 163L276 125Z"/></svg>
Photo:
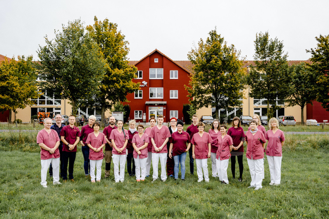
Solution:
<svg viewBox="0 0 329 219"><path fill-rule="evenodd" d="M191 143L195 145L194 155L195 159L208 159L208 144L211 143L213 139L210 137L209 133L204 132L202 137L199 133L193 135Z"/></svg>

